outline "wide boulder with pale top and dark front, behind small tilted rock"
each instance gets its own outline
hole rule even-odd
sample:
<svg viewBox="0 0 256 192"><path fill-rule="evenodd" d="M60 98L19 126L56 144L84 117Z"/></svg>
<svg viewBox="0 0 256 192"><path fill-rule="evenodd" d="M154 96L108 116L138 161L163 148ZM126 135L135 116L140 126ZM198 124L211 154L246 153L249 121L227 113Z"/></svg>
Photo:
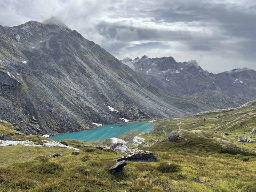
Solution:
<svg viewBox="0 0 256 192"><path fill-rule="evenodd" d="M153 152L142 151L142 150L131 150L127 153L122 154L117 161L140 161L140 162L152 162L157 161L157 158Z"/></svg>

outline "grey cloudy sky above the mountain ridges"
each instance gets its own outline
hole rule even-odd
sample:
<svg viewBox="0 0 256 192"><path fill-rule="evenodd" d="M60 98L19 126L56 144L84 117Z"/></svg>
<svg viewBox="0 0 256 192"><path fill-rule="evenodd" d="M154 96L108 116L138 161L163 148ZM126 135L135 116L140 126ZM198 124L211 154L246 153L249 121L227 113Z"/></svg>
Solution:
<svg viewBox="0 0 256 192"><path fill-rule="evenodd" d="M0 0L0 24L56 16L119 59L196 60L209 72L256 70L255 0Z"/></svg>

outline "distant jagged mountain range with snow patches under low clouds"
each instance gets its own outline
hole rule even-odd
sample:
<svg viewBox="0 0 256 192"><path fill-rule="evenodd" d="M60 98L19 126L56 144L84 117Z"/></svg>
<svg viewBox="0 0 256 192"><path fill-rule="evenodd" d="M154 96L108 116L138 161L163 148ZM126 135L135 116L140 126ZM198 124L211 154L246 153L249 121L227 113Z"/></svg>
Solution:
<svg viewBox="0 0 256 192"><path fill-rule="evenodd" d="M256 71L252 69L213 74L196 61L181 63L173 57L151 59L145 55L121 62L159 89L193 97L216 108L235 107L256 98Z"/></svg>

